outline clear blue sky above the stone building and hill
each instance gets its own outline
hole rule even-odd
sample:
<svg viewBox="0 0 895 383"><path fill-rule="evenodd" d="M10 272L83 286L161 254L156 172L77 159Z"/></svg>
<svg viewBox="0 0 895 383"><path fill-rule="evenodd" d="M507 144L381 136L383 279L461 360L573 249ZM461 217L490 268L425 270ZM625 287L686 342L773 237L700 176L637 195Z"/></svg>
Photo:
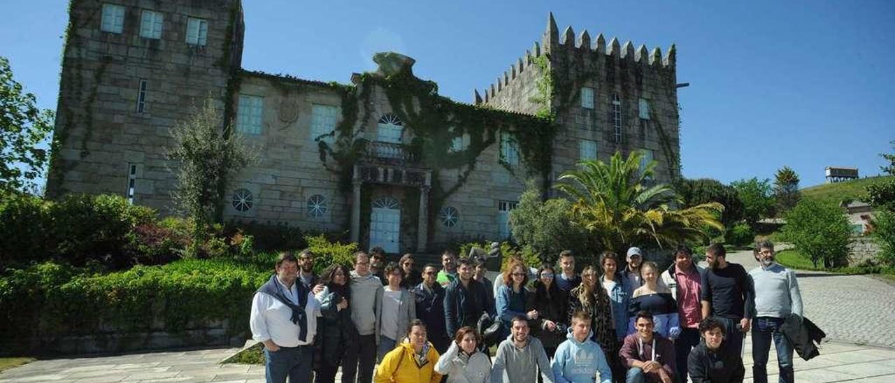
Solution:
<svg viewBox="0 0 895 383"><path fill-rule="evenodd" d="M111 1L111 0L110 0ZM0 0L0 55L55 109L61 0ZM540 41L560 31L678 47L684 175L728 183L791 166L802 186L824 166L879 173L895 140L895 2L608 2L245 0L243 67L349 82L373 52L416 59L440 93L470 102ZM10 17L11 15L14 15Z"/></svg>

